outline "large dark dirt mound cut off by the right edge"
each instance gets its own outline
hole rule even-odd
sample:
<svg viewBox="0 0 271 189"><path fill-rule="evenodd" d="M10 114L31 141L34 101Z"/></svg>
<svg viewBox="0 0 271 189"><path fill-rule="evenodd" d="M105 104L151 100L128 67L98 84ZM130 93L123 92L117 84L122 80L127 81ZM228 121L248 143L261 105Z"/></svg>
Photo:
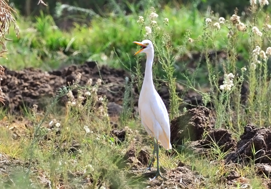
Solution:
<svg viewBox="0 0 271 189"><path fill-rule="evenodd" d="M271 163L271 129L256 128L248 124L237 142L236 149L228 154L226 162Z"/></svg>

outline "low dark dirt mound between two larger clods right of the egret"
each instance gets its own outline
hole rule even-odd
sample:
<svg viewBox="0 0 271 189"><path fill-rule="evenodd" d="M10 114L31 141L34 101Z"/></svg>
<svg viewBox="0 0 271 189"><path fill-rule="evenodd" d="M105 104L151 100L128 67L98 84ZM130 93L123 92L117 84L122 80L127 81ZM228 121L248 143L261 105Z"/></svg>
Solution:
<svg viewBox="0 0 271 189"><path fill-rule="evenodd" d="M204 148L219 147L222 152L227 152L236 146L232 134L226 129L215 129L208 132L207 137L200 141Z"/></svg>

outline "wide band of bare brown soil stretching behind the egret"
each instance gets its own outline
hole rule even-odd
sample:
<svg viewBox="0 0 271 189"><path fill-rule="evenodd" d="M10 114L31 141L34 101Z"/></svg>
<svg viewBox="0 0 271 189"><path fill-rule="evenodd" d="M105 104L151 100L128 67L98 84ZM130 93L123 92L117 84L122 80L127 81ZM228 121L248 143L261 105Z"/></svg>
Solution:
<svg viewBox="0 0 271 189"><path fill-rule="evenodd" d="M125 91L125 77L130 74L123 69L109 68L107 66L98 67L96 62L89 61L83 65L72 65L60 70L51 72L43 72L39 69L26 68L20 71L13 71L5 68L5 75L1 81L3 92L6 94L5 107L11 113L20 112L23 106L33 107L37 104L42 108L51 102L51 98L55 96L56 91L67 86L68 83L73 83L76 80L76 75L82 74L79 85L86 85L86 82L91 78L94 85L97 80L102 79L102 84L98 89L98 95L106 95L108 99L108 113L111 116L119 115L122 111L123 95ZM162 97L165 105L169 108L170 96L168 86L165 82L160 82L157 88L159 95ZM176 84L176 92L182 95L184 88ZM74 91L76 97L76 91ZM134 99L134 111L137 111L138 90L136 85L132 89ZM193 92L186 92L184 100L193 105L201 105L202 100L200 95ZM67 97L62 98L63 102L67 102Z"/></svg>

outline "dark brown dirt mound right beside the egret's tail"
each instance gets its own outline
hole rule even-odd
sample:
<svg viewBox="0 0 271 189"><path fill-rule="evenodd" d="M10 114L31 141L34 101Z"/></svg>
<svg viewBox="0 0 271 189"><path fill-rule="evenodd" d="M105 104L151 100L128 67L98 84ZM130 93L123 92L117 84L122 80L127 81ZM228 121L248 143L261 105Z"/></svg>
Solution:
<svg viewBox="0 0 271 189"><path fill-rule="evenodd" d="M210 110L206 107L196 107L174 118L170 123L170 141L180 145L185 139L200 140L205 130L210 130L208 124Z"/></svg>

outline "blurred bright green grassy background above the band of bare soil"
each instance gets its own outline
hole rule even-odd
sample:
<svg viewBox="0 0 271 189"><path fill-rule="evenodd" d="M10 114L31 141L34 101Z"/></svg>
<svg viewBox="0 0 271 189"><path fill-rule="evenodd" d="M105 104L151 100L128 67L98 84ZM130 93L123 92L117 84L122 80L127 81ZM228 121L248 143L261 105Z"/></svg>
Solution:
<svg viewBox="0 0 271 189"><path fill-rule="evenodd" d="M137 20L139 16L144 16L146 11L150 14L151 6L159 15L156 20L162 28L161 31L171 35L172 45L175 48L187 40L185 33L188 30L191 31L192 39L201 36L206 17L213 17L214 22L221 16L229 19L237 7L242 22L246 23L245 19L251 19L247 0L226 0L219 3L214 0L44 0L44 2L48 6L37 5L37 0L9 1L10 6L17 11L16 18L20 27L19 38L13 31L8 36L13 41L8 42L9 54L6 55L6 59L2 59L2 64L9 69L37 67L52 70L70 64L83 64L86 60L95 60L99 64L134 70L136 60L133 54L138 47L132 42L144 39ZM164 18L169 19L167 27L163 25ZM259 15L259 25L263 25L264 18L264 13ZM144 23L143 33L148 24L150 23ZM207 42L207 47L211 51L225 49L228 32L226 26L221 27L214 41L215 46L210 41ZM246 64L248 39L246 33L238 39L236 50L242 57L238 59L238 67ZM186 44L182 55L189 57L190 53L201 53L202 43L202 40L195 40L194 43ZM176 60L174 67L177 79L184 81L182 73L185 72L189 76L195 71L196 64L189 58ZM195 79L204 83L207 71L204 66L200 69L202 74L195 76Z"/></svg>

